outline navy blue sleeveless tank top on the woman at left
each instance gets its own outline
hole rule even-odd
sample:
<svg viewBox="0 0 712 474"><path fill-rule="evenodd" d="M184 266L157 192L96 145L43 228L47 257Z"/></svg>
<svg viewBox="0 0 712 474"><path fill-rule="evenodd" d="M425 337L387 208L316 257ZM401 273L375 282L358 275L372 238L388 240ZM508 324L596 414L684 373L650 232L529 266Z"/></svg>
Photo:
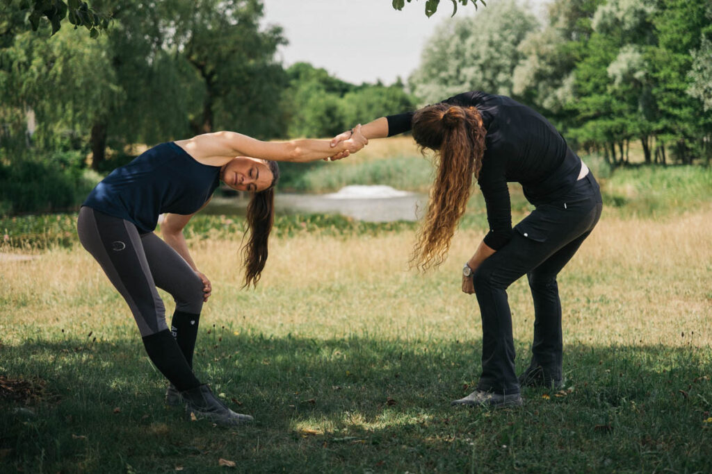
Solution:
<svg viewBox="0 0 712 474"><path fill-rule="evenodd" d="M133 222L142 234L155 230L164 212L192 214L213 194L220 167L195 161L172 141L154 146L116 168L83 205Z"/></svg>

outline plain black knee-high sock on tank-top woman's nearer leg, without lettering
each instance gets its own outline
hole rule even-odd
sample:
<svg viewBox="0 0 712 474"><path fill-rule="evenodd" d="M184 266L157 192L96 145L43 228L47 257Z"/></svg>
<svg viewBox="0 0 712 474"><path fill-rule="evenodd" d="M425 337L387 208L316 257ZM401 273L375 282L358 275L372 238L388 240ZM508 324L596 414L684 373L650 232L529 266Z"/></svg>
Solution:
<svg viewBox="0 0 712 474"><path fill-rule="evenodd" d="M143 338L143 345L151 362L179 392L200 385L169 330L147 335Z"/></svg>

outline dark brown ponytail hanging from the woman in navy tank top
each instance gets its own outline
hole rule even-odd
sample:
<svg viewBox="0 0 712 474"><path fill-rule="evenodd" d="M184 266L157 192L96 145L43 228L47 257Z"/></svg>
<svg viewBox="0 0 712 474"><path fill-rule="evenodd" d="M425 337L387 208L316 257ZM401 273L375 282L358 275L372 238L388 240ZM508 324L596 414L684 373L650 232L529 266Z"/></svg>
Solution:
<svg viewBox="0 0 712 474"><path fill-rule="evenodd" d="M245 262L245 286L257 286L262 269L267 263L267 240L274 223L274 187L279 180L279 166L276 161L265 161L272 172L272 184L266 190L253 193L247 205L247 229L250 238L242 247Z"/></svg>

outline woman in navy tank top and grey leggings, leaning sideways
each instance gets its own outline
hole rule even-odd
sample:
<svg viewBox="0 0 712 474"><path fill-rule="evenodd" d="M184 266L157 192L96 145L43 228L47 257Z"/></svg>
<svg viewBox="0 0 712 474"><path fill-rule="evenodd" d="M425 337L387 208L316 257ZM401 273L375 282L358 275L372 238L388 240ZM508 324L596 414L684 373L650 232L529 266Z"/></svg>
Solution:
<svg viewBox="0 0 712 474"><path fill-rule="evenodd" d="M360 126L337 149L326 140L266 142L219 131L154 146L90 193L79 212L80 242L128 303L148 356L170 382L168 404L185 403L187 413L223 425L252 419L220 402L192 369L200 312L212 287L188 251L182 232L187 222L209 202L219 181L250 193L250 237L242 253L244 284L254 286L268 255L276 162L343 158L367 142ZM163 239L153 232L161 214ZM157 288L175 300L170 328Z"/></svg>

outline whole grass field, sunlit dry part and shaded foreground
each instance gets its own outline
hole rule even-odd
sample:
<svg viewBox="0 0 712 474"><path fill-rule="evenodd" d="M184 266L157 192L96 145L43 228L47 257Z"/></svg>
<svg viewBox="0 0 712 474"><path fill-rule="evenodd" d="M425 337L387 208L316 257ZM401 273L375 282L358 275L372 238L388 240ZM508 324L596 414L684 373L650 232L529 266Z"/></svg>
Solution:
<svg viewBox="0 0 712 474"><path fill-rule="evenodd" d="M565 389L525 389L522 408L498 411L449 406L479 374L476 301L459 291L483 234L477 197L427 274L406 271L413 225L282 218L254 291L240 289L241 221L197 219L192 254L214 285L197 373L255 416L239 429L163 405L71 215L4 220L4 256L33 258L0 260L0 387L13 389L0 392L0 471L709 472L711 174L667 171L602 183L602 220L559 279ZM509 299L523 370L526 281Z"/></svg>

